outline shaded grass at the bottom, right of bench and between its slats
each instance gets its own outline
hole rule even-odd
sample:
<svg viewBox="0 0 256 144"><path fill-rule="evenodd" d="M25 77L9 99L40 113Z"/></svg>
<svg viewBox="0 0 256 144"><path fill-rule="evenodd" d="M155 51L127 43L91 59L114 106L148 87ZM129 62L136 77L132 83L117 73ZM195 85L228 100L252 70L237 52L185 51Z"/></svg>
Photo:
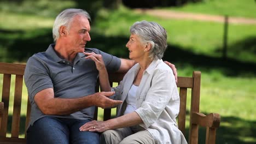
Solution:
<svg viewBox="0 0 256 144"><path fill-rule="evenodd" d="M187 113L189 115L189 113ZM103 117L103 115L102 115ZM113 118L113 116L112 116ZM11 119L8 116L7 131L11 133ZM103 119L103 118L102 118ZM25 134L26 117L21 116L20 120L20 135ZM256 121L247 121L238 117L221 117L220 127L217 129L216 143L234 143L234 144L252 144L255 143L256 137ZM188 140L189 129L186 129L186 139ZM205 143L205 128L199 129L199 142ZM245 141L245 139L249 141Z"/></svg>

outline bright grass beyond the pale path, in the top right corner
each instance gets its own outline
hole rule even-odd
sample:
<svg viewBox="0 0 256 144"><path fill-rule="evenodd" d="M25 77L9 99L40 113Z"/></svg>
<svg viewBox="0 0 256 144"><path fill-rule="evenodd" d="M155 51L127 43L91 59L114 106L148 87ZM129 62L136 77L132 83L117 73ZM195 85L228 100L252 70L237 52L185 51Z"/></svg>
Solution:
<svg viewBox="0 0 256 144"><path fill-rule="evenodd" d="M211 15L228 15L234 17L256 18L256 2L254 0L203 0L199 3L189 3L182 7L165 8L189 13Z"/></svg>

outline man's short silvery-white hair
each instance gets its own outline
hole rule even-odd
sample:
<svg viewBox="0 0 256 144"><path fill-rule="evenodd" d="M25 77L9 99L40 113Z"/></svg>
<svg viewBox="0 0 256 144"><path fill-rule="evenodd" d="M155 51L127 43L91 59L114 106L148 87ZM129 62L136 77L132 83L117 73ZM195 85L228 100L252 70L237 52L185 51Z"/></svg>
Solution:
<svg viewBox="0 0 256 144"><path fill-rule="evenodd" d="M73 17L77 15L85 16L89 21L91 20L90 15L83 9L65 9L59 15L57 15L53 26L53 38L55 42L60 37L60 27L66 26L69 30L69 25L73 20Z"/></svg>

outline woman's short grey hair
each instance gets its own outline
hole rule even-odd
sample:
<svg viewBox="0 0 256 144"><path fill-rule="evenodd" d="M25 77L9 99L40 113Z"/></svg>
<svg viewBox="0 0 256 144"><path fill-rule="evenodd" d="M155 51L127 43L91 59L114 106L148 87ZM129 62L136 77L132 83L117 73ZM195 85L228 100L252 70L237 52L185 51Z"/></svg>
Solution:
<svg viewBox="0 0 256 144"><path fill-rule="evenodd" d="M156 22L135 22L130 28L131 34L138 35L142 44L152 44L149 50L151 59L161 59L167 47L167 32Z"/></svg>

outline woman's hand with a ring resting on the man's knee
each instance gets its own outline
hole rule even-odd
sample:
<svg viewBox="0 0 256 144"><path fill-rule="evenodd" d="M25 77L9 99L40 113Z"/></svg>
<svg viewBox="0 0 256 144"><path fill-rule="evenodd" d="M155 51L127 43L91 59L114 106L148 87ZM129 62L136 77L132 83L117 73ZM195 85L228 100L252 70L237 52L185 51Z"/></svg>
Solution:
<svg viewBox="0 0 256 144"><path fill-rule="evenodd" d="M106 121L91 121L82 125L82 127L80 127L79 130L103 132L109 130L109 127Z"/></svg>

